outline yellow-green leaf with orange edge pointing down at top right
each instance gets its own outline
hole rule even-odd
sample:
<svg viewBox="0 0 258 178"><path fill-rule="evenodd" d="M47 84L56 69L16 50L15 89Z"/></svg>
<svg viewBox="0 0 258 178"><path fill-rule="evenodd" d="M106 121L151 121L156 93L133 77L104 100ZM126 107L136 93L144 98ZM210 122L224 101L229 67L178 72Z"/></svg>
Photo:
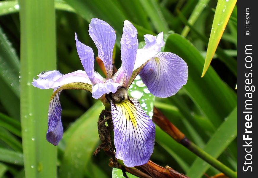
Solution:
<svg viewBox="0 0 258 178"><path fill-rule="evenodd" d="M236 1L237 0L232 0L232 1L218 0L215 15L214 15L214 20L211 28L211 34L210 34L210 39L208 43L207 55L205 58L202 77L206 73L211 63L213 55L219 45L219 41L226 28L227 22L235 7Z"/></svg>

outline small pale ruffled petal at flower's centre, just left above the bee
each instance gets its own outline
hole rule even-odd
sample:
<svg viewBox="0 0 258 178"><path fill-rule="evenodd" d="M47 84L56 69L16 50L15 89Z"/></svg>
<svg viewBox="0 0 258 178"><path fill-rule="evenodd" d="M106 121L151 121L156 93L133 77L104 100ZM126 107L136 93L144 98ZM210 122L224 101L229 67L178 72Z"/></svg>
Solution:
<svg viewBox="0 0 258 178"><path fill-rule="evenodd" d="M121 84L113 82L112 79L107 80L105 83L96 83L92 86L92 97L98 99L105 93L115 93L118 86L121 86Z"/></svg>

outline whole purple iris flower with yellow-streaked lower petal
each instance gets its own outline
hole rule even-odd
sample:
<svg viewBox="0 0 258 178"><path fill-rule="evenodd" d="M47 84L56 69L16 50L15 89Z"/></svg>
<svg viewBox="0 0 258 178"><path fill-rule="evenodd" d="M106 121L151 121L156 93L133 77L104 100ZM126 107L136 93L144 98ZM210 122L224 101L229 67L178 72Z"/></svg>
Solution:
<svg viewBox="0 0 258 178"><path fill-rule="evenodd" d="M88 90L92 92L93 98L101 98L111 104L116 158L123 160L128 167L143 165L148 162L154 148L155 125L152 120L135 98L121 94L118 96L120 100L109 101L103 100L106 97L101 96L112 96L118 90L126 91L139 72L143 83L153 95L161 98L172 96L187 82L187 64L173 53L160 52L164 46L162 32L157 37L144 35L146 45L138 49L136 28L125 20L120 42L122 66L112 76L112 51L116 39L114 29L103 20L93 18L89 25L89 35L106 68L106 78L94 72L93 50L79 42L75 34L77 52L85 71L78 70L65 75L56 70L44 71L32 82L37 88L54 89L48 111L47 141L57 145L63 136L60 92L64 89Z"/></svg>

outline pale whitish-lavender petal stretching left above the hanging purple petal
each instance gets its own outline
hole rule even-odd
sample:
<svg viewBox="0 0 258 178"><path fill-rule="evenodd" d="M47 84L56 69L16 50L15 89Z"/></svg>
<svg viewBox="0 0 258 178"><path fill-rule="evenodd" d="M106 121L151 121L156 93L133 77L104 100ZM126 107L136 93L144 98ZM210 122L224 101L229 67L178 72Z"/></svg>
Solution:
<svg viewBox="0 0 258 178"><path fill-rule="evenodd" d="M33 79L32 85L40 89L56 88L72 82L82 82L91 84L85 71L78 70L68 74L61 74L59 71L44 71L38 75L38 79Z"/></svg>

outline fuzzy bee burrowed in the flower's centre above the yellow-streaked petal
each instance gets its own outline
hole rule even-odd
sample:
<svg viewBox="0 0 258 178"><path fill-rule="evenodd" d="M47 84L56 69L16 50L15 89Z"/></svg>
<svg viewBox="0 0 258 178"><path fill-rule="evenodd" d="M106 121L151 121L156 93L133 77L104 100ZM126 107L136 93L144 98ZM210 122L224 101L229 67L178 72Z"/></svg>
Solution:
<svg viewBox="0 0 258 178"><path fill-rule="evenodd" d="M122 103L123 101L130 101L128 91L125 87L118 88L116 93L106 94L106 99L113 103Z"/></svg>

